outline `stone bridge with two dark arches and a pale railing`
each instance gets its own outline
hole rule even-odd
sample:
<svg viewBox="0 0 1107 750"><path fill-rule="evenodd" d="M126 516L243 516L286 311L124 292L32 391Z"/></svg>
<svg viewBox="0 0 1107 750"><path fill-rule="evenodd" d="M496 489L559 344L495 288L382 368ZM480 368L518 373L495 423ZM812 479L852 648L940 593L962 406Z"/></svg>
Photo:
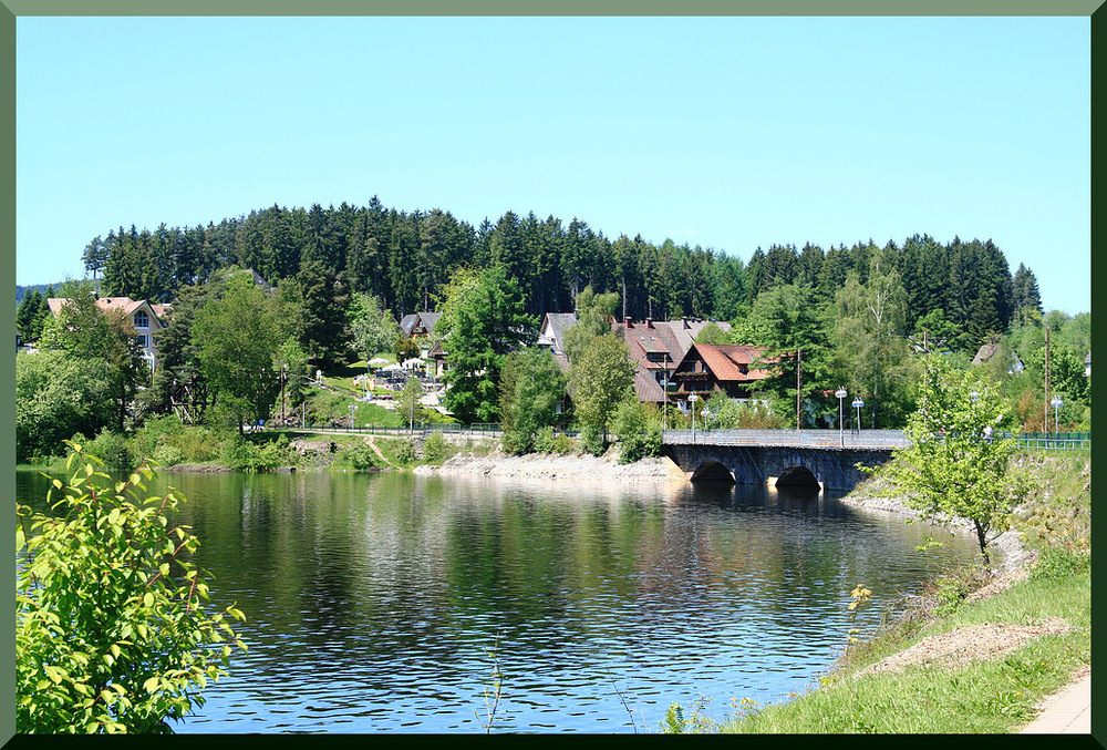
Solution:
<svg viewBox="0 0 1107 750"><path fill-rule="evenodd" d="M691 430L664 433L664 453L693 482L819 486L849 491L907 445L902 432L863 430Z"/></svg>

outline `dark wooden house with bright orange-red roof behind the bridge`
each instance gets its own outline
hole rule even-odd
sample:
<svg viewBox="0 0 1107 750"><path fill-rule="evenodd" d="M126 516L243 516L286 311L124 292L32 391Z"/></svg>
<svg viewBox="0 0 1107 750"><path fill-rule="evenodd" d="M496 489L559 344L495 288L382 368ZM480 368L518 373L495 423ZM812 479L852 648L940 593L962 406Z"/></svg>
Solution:
<svg viewBox="0 0 1107 750"><path fill-rule="evenodd" d="M673 371L672 395L679 401L686 401L692 393L701 399L714 393L748 399L754 383L772 377L758 367L764 355L763 347L694 343Z"/></svg>

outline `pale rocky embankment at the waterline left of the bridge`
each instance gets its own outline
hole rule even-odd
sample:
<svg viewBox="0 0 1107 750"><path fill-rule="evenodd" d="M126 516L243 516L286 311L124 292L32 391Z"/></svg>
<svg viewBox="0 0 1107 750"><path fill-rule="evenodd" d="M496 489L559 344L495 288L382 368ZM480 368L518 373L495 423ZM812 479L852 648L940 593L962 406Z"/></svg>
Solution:
<svg viewBox="0 0 1107 750"><path fill-rule="evenodd" d="M458 453L441 466L418 466L416 474L437 476L492 476L523 480L566 480L590 482L666 482L687 481L687 474L670 459L642 459L621 464L603 455L490 455Z"/></svg>

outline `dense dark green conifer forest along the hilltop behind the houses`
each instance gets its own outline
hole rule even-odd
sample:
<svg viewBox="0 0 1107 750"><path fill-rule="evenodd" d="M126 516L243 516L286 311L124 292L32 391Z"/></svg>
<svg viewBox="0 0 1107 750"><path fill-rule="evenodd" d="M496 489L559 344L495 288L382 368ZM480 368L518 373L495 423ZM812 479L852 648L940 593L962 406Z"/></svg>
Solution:
<svg viewBox="0 0 1107 750"><path fill-rule="evenodd" d="M232 264L272 285L310 268L315 277L345 275L396 316L433 309L456 269L492 264L518 279L534 315L571 310L590 285L619 292L621 316L733 320L776 286L806 285L814 299L834 300L849 273L865 284L872 269L898 275L911 330L920 319L940 320L979 341L1006 330L1021 308L1041 310L1033 273L1020 266L1013 276L991 240L941 244L917 234L883 246L774 245L744 261L669 239L606 237L578 218L508 212L474 227L448 210L385 208L376 197L361 207L275 205L206 227L120 227L93 239L83 257L106 295L172 301L182 286Z"/></svg>

